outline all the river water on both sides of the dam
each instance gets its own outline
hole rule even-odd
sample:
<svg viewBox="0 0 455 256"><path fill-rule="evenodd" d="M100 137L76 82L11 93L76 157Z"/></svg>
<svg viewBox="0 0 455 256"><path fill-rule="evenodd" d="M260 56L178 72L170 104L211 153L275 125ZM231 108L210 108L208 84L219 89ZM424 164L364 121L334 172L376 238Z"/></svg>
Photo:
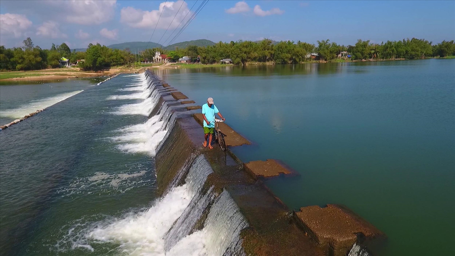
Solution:
<svg viewBox="0 0 455 256"><path fill-rule="evenodd" d="M298 172L265 181L291 209L346 205L388 236L380 255L455 255L455 60L154 72L199 105L214 98L252 142L231 148L241 160ZM46 108L0 131L0 255L222 255L211 214L201 232L176 231L207 163L157 198L154 155L173 114L163 103L151 116L152 80L96 82L0 86L1 125Z"/></svg>

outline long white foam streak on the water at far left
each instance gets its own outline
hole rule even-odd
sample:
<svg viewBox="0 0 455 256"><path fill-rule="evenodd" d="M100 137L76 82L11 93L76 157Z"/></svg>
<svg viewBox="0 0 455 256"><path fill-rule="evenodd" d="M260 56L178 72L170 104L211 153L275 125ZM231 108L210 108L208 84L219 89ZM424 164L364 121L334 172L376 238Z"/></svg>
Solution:
<svg viewBox="0 0 455 256"><path fill-rule="evenodd" d="M8 118L22 118L25 115L35 112L38 109L48 108L58 102L61 102L71 96L78 94L79 92L83 92L84 90L74 91L74 92L66 92L62 93L53 97L43 98L40 100L31 101L26 105L23 105L19 108L15 109L7 109L0 111L0 117L8 117Z"/></svg>

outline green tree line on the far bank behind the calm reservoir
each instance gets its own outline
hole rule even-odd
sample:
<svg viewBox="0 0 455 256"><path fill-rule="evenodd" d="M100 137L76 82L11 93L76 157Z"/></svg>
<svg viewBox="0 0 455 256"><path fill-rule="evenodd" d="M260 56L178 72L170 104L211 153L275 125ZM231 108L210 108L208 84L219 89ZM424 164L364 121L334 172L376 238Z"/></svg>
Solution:
<svg viewBox="0 0 455 256"><path fill-rule="evenodd" d="M311 53L317 53L323 61L333 61L339 58L342 51L349 54L351 60L376 59L418 59L426 57L445 57L455 55L454 41L443 41L432 45L425 39L403 39L402 41L387 41L381 44L370 41L358 40L355 45L339 45L330 40L318 41L317 45L298 41L281 41L273 44L271 40L264 39L259 42L231 41L229 43L218 42L214 46L188 46L186 49L165 51L160 48L147 49L142 52L146 60L152 60L155 51L167 54L172 61L177 61L183 56L189 56L195 60L200 56L203 64L219 63L222 59L232 59L236 65L245 64L248 61L267 62L277 64L300 63L311 60Z"/></svg>

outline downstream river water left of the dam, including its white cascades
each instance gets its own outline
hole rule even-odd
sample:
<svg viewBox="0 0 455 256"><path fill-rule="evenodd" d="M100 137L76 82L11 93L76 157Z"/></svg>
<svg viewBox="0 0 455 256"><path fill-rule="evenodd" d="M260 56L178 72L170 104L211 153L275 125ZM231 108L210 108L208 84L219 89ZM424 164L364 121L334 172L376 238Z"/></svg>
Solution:
<svg viewBox="0 0 455 256"><path fill-rule="evenodd" d="M178 116L177 102L159 101L166 90L149 73L71 97L10 88L22 102L4 113L52 106L0 132L0 255L242 255L247 223L227 191L202 192L212 173L203 156L154 193L154 156Z"/></svg>

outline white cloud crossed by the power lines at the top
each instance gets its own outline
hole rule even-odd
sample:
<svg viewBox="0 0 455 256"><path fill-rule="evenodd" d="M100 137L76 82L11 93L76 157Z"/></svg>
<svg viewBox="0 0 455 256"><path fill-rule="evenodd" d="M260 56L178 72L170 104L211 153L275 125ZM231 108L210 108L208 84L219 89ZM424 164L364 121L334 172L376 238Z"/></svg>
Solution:
<svg viewBox="0 0 455 256"><path fill-rule="evenodd" d="M182 7L180 8L180 6ZM178 13L177 10L179 10ZM120 21L135 28L155 28L159 19L157 28L166 29L175 16L175 19L169 27L169 29L174 29L178 26L180 21L184 19L185 15L187 15L189 11L187 3L182 0L178 0L177 2L161 3L158 10L151 11L135 9L128 6L121 9ZM190 16L191 15L188 14L186 20L188 20Z"/></svg>

